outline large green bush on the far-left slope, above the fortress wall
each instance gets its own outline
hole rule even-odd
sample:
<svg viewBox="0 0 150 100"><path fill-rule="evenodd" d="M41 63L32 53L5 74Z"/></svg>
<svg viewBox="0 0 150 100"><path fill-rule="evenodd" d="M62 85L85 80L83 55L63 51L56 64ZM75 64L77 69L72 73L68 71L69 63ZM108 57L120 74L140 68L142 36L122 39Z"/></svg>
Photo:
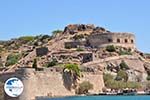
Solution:
<svg viewBox="0 0 150 100"><path fill-rule="evenodd" d="M7 61L5 63L5 66L11 66L16 64L20 58L21 58L20 54L9 54L7 56Z"/></svg>

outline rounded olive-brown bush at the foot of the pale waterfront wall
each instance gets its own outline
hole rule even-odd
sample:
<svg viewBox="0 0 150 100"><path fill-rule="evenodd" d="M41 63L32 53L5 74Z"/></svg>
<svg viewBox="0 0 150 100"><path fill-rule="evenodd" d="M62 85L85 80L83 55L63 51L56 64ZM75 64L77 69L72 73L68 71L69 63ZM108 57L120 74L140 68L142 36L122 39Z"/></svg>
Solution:
<svg viewBox="0 0 150 100"><path fill-rule="evenodd" d="M93 89L93 84L89 81L84 81L79 84L79 88L76 90L77 94L87 94L89 90Z"/></svg>

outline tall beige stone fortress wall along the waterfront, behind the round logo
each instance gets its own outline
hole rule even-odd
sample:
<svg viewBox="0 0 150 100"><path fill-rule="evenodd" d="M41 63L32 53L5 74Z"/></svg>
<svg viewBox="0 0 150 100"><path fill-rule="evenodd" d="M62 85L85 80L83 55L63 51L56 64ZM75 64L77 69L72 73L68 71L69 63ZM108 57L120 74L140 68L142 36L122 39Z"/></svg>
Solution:
<svg viewBox="0 0 150 100"><path fill-rule="evenodd" d="M75 91L65 88L62 74L56 70L44 69L35 71L32 68L20 68L14 73L0 75L0 81L5 82L8 78L17 77L24 84L24 91L18 98L11 98L5 94L5 100L35 100L41 96L74 96ZM92 92L102 91L104 87L103 75L93 73L83 73L80 82L89 81L93 84Z"/></svg>

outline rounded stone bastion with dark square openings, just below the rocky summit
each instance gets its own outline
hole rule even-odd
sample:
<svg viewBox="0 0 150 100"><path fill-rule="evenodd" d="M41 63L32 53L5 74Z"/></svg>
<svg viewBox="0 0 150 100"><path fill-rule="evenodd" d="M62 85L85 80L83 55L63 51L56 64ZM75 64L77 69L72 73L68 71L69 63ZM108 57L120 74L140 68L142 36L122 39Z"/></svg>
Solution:
<svg viewBox="0 0 150 100"><path fill-rule="evenodd" d="M130 33L94 33L88 42L92 47L116 45L135 49L135 36Z"/></svg>

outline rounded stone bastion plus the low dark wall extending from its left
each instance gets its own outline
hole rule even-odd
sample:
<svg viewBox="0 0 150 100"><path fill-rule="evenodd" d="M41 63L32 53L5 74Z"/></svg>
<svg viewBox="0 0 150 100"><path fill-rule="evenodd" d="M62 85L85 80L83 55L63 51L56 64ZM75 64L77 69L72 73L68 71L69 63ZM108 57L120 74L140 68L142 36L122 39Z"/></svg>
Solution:
<svg viewBox="0 0 150 100"><path fill-rule="evenodd" d="M65 42L65 47L92 47L100 48L108 45L135 49L135 36L131 33L97 32L91 33L84 41Z"/></svg>

